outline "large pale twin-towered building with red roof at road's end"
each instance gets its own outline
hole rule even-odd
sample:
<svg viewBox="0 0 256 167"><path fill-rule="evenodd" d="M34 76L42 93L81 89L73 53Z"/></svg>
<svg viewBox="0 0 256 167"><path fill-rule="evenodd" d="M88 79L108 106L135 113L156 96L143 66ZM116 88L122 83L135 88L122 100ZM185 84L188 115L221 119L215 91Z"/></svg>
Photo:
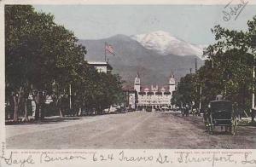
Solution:
<svg viewBox="0 0 256 167"><path fill-rule="evenodd" d="M171 108L172 92L175 90L175 78L173 73L169 78L169 83L165 86L151 85L142 86L139 74L134 81L134 92L129 95L129 107L139 109L160 109L162 107Z"/></svg>

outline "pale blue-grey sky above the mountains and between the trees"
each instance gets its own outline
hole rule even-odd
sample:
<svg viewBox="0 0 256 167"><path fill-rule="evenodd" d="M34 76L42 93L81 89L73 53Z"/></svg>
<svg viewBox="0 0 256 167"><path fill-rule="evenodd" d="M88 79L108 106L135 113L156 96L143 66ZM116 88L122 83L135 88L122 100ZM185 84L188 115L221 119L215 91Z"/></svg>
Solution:
<svg viewBox="0 0 256 167"><path fill-rule="evenodd" d="M116 34L127 36L165 31L189 43L214 42L215 25L247 30L247 20L256 15L256 5L245 5L225 21L231 12L224 5L34 5L37 11L51 13L57 24L74 32L79 39L100 39ZM240 11L239 10L239 11ZM239 13L237 12L237 14ZM224 12L226 12L224 14Z"/></svg>

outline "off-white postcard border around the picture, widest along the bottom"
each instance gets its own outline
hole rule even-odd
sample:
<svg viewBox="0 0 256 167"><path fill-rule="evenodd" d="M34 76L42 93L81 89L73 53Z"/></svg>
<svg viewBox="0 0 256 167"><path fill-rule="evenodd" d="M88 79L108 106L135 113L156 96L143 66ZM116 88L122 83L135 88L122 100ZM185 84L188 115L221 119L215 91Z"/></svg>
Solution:
<svg viewBox="0 0 256 167"><path fill-rule="evenodd" d="M4 4L225 4L229 3L230 0L176 0L176 1L166 1L166 0L148 0L148 1L137 1L137 0L0 0L0 55L1 55L1 71L0 71L0 147L1 159L0 166L20 166L20 167L30 167L30 166L246 166L253 167L256 166L256 151L255 150L224 150L224 149L138 149L138 150L14 150L6 149L5 147L5 124L4 124ZM235 1L234 1L235 2ZM249 4L256 4L256 1L249 0ZM122 153L123 152L123 153ZM108 155L113 154L113 160L101 160L101 155L103 158L108 158ZM120 160L125 154L127 159L130 160ZM191 156L191 162L183 163L179 162L178 158L181 155ZM232 154L231 159L228 159ZM48 157L47 157L48 156ZM106 156L106 157L105 157ZM165 156L168 157L165 162ZM193 157L194 156L194 157ZM215 156L215 157L214 157ZM248 160L252 163L242 164L242 160L245 160L247 156ZM132 158L133 157L133 158ZM153 157L153 160L150 160ZM207 157L207 158L206 158ZM218 161L218 158L223 158L223 161ZM9 165L7 162L12 158L12 164ZM84 159L85 158L85 159ZM132 160L140 158L141 160ZM150 159L149 159L150 158ZM205 159L203 159L205 158ZM214 160L214 158L216 158ZM32 159L32 161L30 161ZM46 161L44 161L46 159ZM49 159L52 159L50 161ZM97 160L96 160L97 159ZM194 159L194 160L193 160ZM199 159L199 162L196 162ZM206 160L207 159L207 160ZM49 160L49 162L47 162ZM181 159L180 159L181 160ZM232 162L230 162L230 161ZM233 161L234 160L234 161ZM30 163L29 163L30 161ZM172 162L171 162L172 161ZM213 162L215 161L215 162ZM16 162L16 163L15 163Z"/></svg>

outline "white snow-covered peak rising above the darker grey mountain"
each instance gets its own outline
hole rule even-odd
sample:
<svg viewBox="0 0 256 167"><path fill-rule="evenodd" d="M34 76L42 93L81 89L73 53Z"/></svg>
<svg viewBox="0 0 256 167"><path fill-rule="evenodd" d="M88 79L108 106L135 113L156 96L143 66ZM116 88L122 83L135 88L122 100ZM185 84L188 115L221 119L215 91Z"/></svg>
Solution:
<svg viewBox="0 0 256 167"><path fill-rule="evenodd" d="M133 35L131 38L141 43L146 49L152 49L160 55L196 55L202 58L201 45L188 43L172 36L169 32L157 31L148 34Z"/></svg>

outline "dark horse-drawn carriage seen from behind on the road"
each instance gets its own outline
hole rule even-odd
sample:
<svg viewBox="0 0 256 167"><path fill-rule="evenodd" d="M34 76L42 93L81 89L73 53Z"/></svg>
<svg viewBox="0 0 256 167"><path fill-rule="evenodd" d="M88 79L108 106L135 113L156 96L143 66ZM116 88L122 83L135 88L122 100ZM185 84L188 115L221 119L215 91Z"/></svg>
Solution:
<svg viewBox="0 0 256 167"><path fill-rule="evenodd" d="M236 135L236 111L234 112L231 101L211 101L204 113L204 122L210 134L220 126L221 130L224 128L225 131Z"/></svg>

